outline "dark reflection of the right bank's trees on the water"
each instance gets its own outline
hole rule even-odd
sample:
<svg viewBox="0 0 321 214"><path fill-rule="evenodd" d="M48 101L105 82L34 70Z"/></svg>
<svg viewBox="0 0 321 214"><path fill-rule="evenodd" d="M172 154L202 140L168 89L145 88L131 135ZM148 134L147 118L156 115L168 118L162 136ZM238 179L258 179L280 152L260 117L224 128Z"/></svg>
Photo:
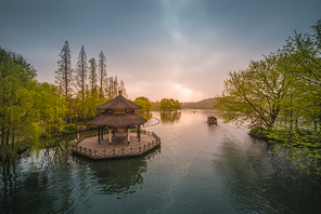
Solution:
<svg viewBox="0 0 321 214"><path fill-rule="evenodd" d="M214 171L221 177L223 190L237 212L320 211L320 184L280 159L268 143L256 142L244 151L233 142L224 142L220 153L213 162Z"/></svg>

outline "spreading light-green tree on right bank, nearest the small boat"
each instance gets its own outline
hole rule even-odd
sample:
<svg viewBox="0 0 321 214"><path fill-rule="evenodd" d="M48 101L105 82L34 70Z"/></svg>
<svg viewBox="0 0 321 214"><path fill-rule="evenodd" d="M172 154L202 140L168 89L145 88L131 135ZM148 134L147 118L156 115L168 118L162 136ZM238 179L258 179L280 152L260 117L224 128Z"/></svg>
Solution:
<svg viewBox="0 0 321 214"><path fill-rule="evenodd" d="M273 128L292 85L278 59L277 54L265 56L261 61L252 61L247 69L229 72L222 95L213 105L226 122Z"/></svg>

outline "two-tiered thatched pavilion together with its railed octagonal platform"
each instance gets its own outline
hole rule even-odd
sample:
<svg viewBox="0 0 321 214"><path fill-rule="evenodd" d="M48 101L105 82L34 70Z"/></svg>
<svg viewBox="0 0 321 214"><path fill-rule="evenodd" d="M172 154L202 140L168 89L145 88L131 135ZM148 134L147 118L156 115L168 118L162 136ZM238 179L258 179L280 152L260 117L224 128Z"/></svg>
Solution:
<svg viewBox="0 0 321 214"><path fill-rule="evenodd" d="M141 155L160 145L160 138L155 133L141 134L140 125L146 120L134 112L141 106L121 94L97 108L104 110L90 121L98 126L98 142L94 137L84 139L74 145L74 152L93 159L114 158ZM132 128L137 128L137 137L130 134ZM108 130L108 142L104 139L104 130Z"/></svg>

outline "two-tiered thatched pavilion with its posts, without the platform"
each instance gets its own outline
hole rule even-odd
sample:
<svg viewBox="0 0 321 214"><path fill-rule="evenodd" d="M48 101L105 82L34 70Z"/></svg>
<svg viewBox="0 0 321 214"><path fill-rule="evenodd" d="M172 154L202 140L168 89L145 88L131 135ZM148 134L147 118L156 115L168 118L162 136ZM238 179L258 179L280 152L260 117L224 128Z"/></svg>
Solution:
<svg viewBox="0 0 321 214"><path fill-rule="evenodd" d="M129 129L137 128L137 138L140 141L140 125L147 121L134 112L136 109L141 108L141 106L126 99L121 92L116 98L98 106L97 109L104 111L90 121L91 124L98 126L98 143L101 144L101 139L103 139L104 129L110 131L110 145L112 145L113 136L119 129L125 129L125 132L127 132L129 144Z"/></svg>

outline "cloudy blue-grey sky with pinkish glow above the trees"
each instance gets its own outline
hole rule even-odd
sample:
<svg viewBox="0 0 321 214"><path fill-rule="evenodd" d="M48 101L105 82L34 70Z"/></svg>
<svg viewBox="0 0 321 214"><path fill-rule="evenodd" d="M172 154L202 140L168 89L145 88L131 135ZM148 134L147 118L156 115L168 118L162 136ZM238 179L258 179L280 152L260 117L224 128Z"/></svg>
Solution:
<svg viewBox="0 0 321 214"><path fill-rule="evenodd" d="M321 0L2 0L0 45L54 83L65 40L72 67L106 56L130 99L198 102L221 94L228 72L312 34Z"/></svg>

